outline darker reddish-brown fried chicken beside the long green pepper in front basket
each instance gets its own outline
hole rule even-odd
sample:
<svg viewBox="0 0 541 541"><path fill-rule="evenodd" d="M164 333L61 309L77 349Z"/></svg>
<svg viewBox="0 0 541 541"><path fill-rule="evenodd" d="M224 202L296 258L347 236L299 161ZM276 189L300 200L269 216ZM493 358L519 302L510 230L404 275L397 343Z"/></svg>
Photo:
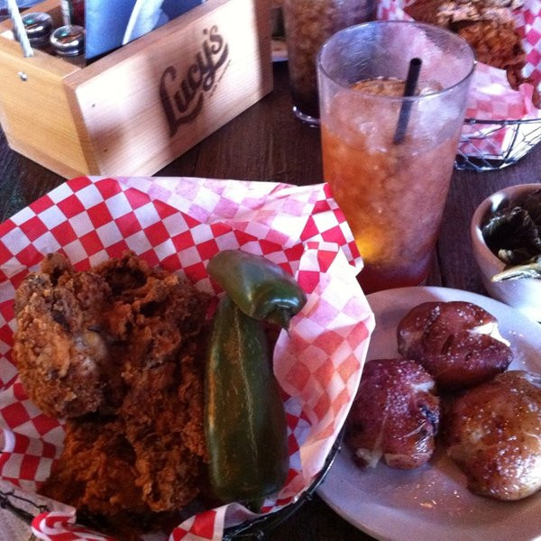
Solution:
<svg viewBox="0 0 541 541"><path fill-rule="evenodd" d="M69 281L62 277L73 271L62 261L45 278L60 275L64 288ZM47 298L40 277L31 295L21 289L22 309L32 295ZM78 280L99 280L107 291L87 314L99 313L106 339L107 362L96 371L106 396L91 417L69 421L59 464L42 491L114 527L176 512L206 486L202 353L210 297L133 253Z"/></svg>

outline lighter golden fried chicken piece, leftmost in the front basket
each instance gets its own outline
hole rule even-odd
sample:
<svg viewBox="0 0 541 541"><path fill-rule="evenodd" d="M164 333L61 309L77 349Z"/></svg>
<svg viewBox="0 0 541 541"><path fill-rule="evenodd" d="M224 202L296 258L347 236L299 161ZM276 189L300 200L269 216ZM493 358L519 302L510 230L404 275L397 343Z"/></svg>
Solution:
<svg viewBox="0 0 541 541"><path fill-rule="evenodd" d="M100 334L110 289L93 272L76 272L60 253L47 256L15 293L14 362L23 388L52 417L96 411L104 400Z"/></svg>

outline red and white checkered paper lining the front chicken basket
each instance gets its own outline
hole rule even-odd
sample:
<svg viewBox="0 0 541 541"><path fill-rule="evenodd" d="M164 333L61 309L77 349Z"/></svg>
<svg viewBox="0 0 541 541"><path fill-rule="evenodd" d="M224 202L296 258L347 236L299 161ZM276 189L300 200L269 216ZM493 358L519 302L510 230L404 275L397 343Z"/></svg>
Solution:
<svg viewBox="0 0 541 541"><path fill-rule="evenodd" d="M219 294L206 276L206 262L223 249L268 257L307 292L306 307L275 348L275 372L286 396L290 470L278 498L266 500L262 511L298 500L344 424L374 326L355 278L362 262L353 236L324 184L83 177L0 225L0 481L35 492L61 449L61 424L26 398L11 359L14 291L43 255L60 250L77 270L87 270L133 250ZM50 509L33 520L40 539L109 539L78 527L74 509ZM211 509L179 525L169 539L219 539L224 527L252 517L239 504Z"/></svg>

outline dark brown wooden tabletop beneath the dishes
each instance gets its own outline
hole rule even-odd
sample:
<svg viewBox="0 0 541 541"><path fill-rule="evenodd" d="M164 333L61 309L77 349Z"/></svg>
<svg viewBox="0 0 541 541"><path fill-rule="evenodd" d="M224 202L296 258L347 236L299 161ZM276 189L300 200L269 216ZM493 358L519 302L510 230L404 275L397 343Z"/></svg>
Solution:
<svg viewBox="0 0 541 541"><path fill-rule="evenodd" d="M319 131L291 113L287 64L274 65L274 90L242 115L174 160L156 176L288 182L323 181ZM486 295L475 266L469 225L481 200L507 186L538 182L541 145L504 170L454 171L443 226L428 285ZM11 151L0 130L0 222L29 205L64 179ZM419 209L422 212L422 209ZM317 496L265 536L270 541L369 540Z"/></svg>

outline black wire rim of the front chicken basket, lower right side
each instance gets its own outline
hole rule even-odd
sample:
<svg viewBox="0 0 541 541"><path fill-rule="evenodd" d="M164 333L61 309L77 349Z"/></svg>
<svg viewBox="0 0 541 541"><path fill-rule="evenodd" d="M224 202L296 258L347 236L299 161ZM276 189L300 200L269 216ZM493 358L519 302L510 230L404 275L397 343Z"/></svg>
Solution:
<svg viewBox="0 0 541 541"><path fill-rule="evenodd" d="M226 528L222 538L223 541L248 541L250 539L261 541L261 539L265 538L266 532L270 531L273 527L279 526L282 522L296 513L304 503L312 500L317 488L325 479L326 474L329 472L331 466L335 462L336 454L338 454L338 451L340 451L340 447L342 446L343 436L344 429L336 437L335 444L327 455L323 468L319 473L317 473L316 478L314 481L312 481L312 484L300 495L298 500L290 503L278 511L275 511L274 513L261 515L261 517L253 520L247 520L238 526Z"/></svg>

